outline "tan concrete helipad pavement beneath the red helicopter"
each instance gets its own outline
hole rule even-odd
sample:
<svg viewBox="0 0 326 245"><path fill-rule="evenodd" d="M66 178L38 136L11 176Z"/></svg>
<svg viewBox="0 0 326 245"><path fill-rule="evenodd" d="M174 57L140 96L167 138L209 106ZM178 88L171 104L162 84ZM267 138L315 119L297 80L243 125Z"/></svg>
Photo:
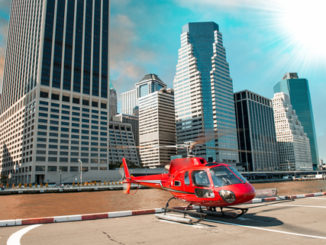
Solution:
<svg viewBox="0 0 326 245"><path fill-rule="evenodd" d="M44 224L24 233L20 243L326 244L325 196L248 206L249 212L238 219L210 218L198 225L160 221L154 215ZM25 227L0 228L0 244Z"/></svg>

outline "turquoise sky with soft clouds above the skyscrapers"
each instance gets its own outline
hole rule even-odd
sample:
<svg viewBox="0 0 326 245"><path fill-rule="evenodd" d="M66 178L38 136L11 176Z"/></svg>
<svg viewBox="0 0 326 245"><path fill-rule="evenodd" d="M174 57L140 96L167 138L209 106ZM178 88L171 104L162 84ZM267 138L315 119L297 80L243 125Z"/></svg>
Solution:
<svg viewBox="0 0 326 245"><path fill-rule="evenodd" d="M309 81L319 155L326 160L326 3L323 0L111 0L110 82L118 94L145 74L169 87L188 22L214 21L223 35L234 91L273 97L286 72ZM0 83L10 0L0 0ZM1 89L0 89L1 91Z"/></svg>

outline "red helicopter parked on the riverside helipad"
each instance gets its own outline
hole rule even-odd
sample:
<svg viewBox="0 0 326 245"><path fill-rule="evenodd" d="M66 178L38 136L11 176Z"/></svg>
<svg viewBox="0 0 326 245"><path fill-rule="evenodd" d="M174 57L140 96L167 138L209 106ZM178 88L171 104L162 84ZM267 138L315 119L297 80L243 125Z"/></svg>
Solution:
<svg viewBox="0 0 326 245"><path fill-rule="evenodd" d="M220 216L224 215L223 208L227 207L240 210L241 213L235 216L239 217L248 209L232 206L255 197L254 187L234 167L224 163L208 163L201 157L174 159L170 162L168 173L157 175L131 176L124 158L123 168L126 193L130 193L131 184L138 184L169 191L173 195L166 203L165 211L169 211L172 199L181 199L189 203L185 210L196 205L201 213ZM206 211L201 207L206 207ZM221 212L218 213L216 208L220 208Z"/></svg>

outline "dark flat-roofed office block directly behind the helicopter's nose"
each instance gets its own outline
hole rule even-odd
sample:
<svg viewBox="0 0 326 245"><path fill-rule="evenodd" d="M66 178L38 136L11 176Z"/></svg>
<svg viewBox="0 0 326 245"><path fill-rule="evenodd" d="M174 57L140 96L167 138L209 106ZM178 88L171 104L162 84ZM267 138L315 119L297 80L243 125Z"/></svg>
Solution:
<svg viewBox="0 0 326 245"><path fill-rule="evenodd" d="M234 94L239 160L244 171L279 169L272 101L248 90Z"/></svg>

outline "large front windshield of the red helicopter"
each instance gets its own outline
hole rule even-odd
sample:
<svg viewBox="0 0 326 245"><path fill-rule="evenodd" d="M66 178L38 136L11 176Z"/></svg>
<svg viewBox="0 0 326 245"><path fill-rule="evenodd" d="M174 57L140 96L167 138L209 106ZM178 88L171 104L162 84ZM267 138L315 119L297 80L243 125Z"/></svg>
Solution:
<svg viewBox="0 0 326 245"><path fill-rule="evenodd" d="M227 167L218 166L210 169L215 187L242 183Z"/></svg>

